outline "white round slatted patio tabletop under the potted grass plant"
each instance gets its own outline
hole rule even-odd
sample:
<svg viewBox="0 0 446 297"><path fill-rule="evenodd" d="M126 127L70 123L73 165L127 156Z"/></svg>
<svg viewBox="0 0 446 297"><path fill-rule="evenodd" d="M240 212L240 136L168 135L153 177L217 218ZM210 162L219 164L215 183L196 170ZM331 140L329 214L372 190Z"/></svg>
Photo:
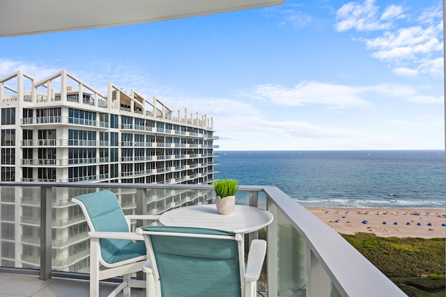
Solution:
<svg viewBox="0 0 446 297"><path fill-rule="evenodd" d="M269 225L272 214L264 209L238 205L231 214L222 215L215 204L192 205L165 212L160 223L171 227L199 227L234 233L250 233Z"/></svg>

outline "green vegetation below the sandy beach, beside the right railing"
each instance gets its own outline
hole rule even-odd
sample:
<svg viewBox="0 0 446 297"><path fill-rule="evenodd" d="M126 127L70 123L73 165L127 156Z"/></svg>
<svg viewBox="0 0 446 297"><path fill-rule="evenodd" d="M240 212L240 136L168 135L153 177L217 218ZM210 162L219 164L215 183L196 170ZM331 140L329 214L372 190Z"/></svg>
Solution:
<svg viewBox="0 0 446 297"><path fill-rule="evenodd" d="M342 236L408 296L436 296L426 292L444 296L444 238L378 237L371 233Z"/></svg>

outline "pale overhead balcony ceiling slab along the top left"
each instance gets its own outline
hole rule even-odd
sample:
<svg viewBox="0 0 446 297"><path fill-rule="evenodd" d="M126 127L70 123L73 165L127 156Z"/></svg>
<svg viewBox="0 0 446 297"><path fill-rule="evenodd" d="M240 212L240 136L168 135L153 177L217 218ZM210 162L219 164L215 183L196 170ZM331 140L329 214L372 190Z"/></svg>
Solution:
<svg viewBox="0 0 446 297"><path fill-rule="evenodd" d="M141 24L284 0L0 0L0 37Z"/></svg>

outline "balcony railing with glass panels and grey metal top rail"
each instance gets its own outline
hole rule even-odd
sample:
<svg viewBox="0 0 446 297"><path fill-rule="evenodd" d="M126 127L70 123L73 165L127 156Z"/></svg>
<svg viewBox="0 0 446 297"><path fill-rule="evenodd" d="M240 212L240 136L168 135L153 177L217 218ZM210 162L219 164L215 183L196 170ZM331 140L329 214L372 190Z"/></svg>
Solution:
<svg viewBox="0 0 446 297"><path fill-rule="evenodd" d="M15 249L2 254L0 273L6 274L0 274L0 284L34 290L10 294L31 296L42 290L45 295L45 290L62 291L67 285L76 289L64 294L88 294L87 230L82 227L82 211L70 198L103 188L116 193L121 205L126 205L125 214L161 214L210 203L214 196L212 186L196 184L0 182L0 207L13 202L15 208L13 217L0 219L0 224L13 229L1 234L1 249ZM240 186L237 199L238 204L266 208L274 215L266 233L247 236L247 240L265 236L268 241L266 277L259 284L263 296L405 296L350 243L279 188ZM103 282L100 294L114 286L113 280ZM144 291L132 294L144 296Z"/></svg>

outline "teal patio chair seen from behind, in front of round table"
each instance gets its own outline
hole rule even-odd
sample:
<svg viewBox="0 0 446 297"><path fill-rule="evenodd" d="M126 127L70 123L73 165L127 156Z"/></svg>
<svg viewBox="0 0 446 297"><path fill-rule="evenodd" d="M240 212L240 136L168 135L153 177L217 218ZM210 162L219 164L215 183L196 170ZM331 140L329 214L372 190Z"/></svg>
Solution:
<svg viewBox="0 0 446 297"><path fill-rule="evenodd" d="M151 273L153 296L256 296L266 241L252 241L245 267L243 234L168 226L136 232L146 241L149 261L143 271Z"/></svg>

